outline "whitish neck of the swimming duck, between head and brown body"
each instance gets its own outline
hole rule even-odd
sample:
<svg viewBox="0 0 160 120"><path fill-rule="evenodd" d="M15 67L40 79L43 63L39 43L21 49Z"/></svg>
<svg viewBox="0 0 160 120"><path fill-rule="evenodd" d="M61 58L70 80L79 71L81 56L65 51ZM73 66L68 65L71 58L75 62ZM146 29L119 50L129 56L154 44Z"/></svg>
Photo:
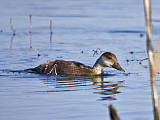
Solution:
<svg viewBox="0 0 160 120"><path fill-rule="evenodd" d="M93 66L93 72L97 75L103 74L104 67L101 65L101 60L98 59Z"/></svg>

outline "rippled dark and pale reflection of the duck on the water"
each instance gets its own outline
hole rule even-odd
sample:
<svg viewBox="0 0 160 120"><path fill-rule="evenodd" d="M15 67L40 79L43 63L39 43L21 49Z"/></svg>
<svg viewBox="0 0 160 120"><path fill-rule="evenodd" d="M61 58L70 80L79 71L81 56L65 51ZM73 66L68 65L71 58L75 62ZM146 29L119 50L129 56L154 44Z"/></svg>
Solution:
<svg viewBox="0 0 160 120"><path fill-rule="evenodd" d="M105 76L75 76L75 77L52 77L43 79L44 84L49 88L41 92L66 92L93 90L94 94L99 94L99 100L116 100L115 94L121 93L118 89L123 87L124 81L104 81Z"/></svg>

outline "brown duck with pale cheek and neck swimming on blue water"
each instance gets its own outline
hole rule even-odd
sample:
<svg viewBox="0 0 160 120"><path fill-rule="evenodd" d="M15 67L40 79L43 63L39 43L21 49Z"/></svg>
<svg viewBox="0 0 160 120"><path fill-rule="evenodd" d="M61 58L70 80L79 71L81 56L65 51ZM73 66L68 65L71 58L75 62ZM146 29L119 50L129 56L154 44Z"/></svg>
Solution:
<svg viewBox="0 0 160 120"><path fill-rule="evenodd" d="M48 61L35 68L27 69L37 74L44 75L103 75L104 68L115 68L121 72L125 70L118 63L116 55L111 52L103 53L95 62L93 67L86 66L81 62L55 60Z"/></svg>

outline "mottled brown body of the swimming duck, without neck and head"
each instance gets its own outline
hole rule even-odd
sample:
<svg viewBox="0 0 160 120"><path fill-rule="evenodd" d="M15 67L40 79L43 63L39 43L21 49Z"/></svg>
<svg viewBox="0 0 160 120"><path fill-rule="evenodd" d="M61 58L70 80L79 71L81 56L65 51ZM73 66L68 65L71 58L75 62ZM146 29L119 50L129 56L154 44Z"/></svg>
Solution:
<svg viewBox="0 0 160 120"><path fill-rule="evenodd" d="M80 62L56 60L46 62L32 69L39 74L47 75L93 75L91 67Z"/></svg>

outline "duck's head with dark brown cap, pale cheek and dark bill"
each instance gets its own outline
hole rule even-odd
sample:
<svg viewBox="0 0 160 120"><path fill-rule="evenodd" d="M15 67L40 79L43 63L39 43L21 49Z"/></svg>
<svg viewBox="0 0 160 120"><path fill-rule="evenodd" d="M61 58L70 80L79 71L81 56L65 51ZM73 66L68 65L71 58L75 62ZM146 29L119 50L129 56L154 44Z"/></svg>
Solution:
<svg viewBox="0 0 160 120"><path fill-rule="evenodd" d="M125 70L118 63L117 57L110 52L103 53L100 58L96 61L95 66L100 65L101 67L110 67L115 68L121 72L125 72Z"/></svg>

